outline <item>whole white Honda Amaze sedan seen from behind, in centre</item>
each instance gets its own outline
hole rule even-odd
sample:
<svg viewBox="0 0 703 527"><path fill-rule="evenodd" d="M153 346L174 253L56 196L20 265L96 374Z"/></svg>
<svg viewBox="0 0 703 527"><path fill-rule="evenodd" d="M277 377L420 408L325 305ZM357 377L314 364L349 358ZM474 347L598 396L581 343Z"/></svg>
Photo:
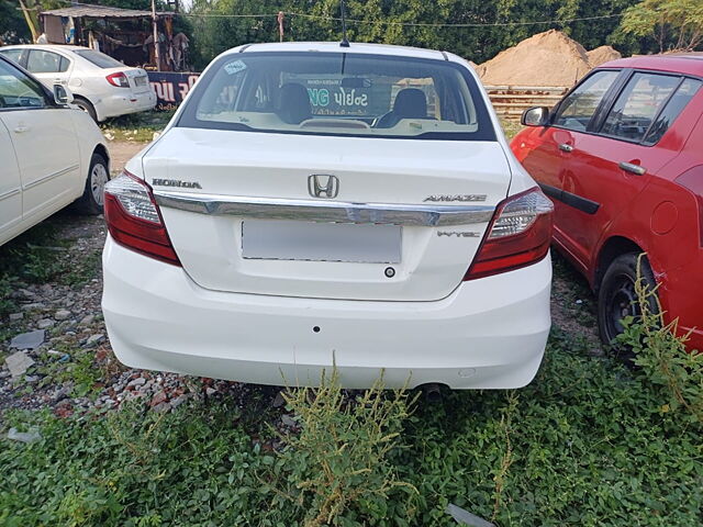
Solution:
<svg viewBox="0 0 703 527"><path fill-rule="evenodd" d="M551 211L464 59L242 46L107 186L108 333L127 366L245 382L523 386Z"/></svg>

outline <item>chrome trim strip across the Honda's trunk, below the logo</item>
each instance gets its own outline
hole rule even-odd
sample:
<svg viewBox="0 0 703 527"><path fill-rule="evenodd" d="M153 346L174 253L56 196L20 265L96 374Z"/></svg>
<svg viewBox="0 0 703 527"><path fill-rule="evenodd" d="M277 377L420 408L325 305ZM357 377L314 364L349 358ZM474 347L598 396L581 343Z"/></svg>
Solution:
<svg viewBox="0 0 703 527"><path fill-rule="evenodd" d="M495 211L486 205L352 203L164 191L154 191L154 198L160 206L198 214L431 227L487 223Z"/></svg>

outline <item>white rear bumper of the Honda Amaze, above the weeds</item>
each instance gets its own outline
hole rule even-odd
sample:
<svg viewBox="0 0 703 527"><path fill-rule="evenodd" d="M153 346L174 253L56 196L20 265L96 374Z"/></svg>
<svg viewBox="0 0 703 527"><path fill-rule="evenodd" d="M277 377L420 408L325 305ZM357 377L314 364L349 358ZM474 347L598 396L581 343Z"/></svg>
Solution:
<svg viewBox="0 0 703 527"><path fill-rule="evenodd" d="M435 302L369 302L210 291L179 267L108 238L102 309L134 368L261 384L315 384L333 360L346 388L520 388L550 327L549 257L464 282Z"/></svg>

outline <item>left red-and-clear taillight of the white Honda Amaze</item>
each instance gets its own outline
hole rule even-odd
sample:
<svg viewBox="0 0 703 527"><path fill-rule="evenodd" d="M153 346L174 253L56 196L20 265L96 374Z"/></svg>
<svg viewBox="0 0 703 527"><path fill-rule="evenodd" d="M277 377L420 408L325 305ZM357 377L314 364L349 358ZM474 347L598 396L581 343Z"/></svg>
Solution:
<svg viewBox="0 0 703 527"><path fill-rule="evenodd" d="M105 222L118 244L157 260L180 266L152 188L124 170L105 184Z"/></svg>

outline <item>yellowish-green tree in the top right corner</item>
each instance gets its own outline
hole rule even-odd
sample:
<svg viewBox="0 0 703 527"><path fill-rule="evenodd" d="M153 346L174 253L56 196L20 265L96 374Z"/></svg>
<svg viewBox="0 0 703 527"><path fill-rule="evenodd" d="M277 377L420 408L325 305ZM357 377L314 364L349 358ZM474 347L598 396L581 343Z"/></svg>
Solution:
<svg viewBox="0 0 703 527"><path fill-rule="evenodd" d="M654 37L660 53L667 48L692 52L703 43L703 1L644 0L625 11L622 30Z"/></svg>

